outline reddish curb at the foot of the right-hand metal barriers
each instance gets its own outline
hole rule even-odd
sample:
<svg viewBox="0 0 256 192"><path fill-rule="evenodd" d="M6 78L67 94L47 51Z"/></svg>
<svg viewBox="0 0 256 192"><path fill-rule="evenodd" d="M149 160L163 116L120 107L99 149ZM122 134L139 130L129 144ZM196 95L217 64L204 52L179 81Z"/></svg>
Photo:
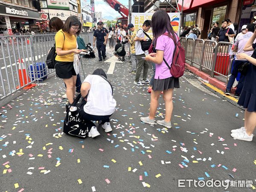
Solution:
<svg viewBox="0 0 256 192"><path fill-rule="evenodd" d="M191 71L192 73L194 73L195 75L201 77L202 79L209 81L209 84L212 84L214 87L217 87L218 89L225 91L226 90L226 83L216 79L216 78L212 78L209 74L204 73L203 71L199 71L198 68L196 67L192 67L189 64L186 63L186 69ZM231 93L235 93L234 88L232 88Z"/></svg>

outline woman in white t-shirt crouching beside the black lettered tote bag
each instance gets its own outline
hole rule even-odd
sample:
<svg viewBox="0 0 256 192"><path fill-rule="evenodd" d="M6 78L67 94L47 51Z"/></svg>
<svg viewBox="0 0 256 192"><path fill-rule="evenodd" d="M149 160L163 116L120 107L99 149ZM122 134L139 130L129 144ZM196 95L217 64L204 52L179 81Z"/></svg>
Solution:
<svg viewBox="0 0 256 192"><path fill-rule="evenodd" d="M99 121L105 132L112 131L109 117L116 110L116 100L113 99L113 88L102 69L96 69L88 75L81 86L83 104L79 113L84 120ZM88 137L100 135L96 127L91 128Z"/></svg>

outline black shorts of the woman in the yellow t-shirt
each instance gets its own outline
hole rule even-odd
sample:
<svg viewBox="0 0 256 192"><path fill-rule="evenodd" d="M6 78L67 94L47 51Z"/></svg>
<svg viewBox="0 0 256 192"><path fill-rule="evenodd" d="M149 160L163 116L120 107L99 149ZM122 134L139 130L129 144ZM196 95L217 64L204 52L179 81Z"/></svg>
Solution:
<svg viewBox="0 0 256 192"><path fill-rule="evenodd" d="M70 79L72 76L76 76L73 61L55 60L55 73L56 76L61 79Z"/></svg>

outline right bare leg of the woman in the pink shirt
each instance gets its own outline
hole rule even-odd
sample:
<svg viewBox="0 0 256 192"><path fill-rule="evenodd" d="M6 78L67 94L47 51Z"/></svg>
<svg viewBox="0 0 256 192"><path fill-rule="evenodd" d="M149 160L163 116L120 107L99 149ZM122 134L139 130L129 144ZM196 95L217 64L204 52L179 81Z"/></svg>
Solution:
<svg viewBox="0 0 256 192"><path fill-rule="evenodd" d="M173 89L168 89L163 91L163 100L166 105L166 116L164 119L165 122L170 122L172 118L172 110L173 110L172 93L173 93Z"/></svg>

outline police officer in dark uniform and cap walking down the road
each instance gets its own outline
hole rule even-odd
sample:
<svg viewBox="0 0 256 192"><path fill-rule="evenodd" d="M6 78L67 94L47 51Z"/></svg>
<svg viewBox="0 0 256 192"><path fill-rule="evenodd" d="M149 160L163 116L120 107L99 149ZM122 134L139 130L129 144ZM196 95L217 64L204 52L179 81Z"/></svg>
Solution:
<svg viewBox="0 0 256 192"><path fill-rule="evenodd" d="M101 22L97 23L98 29L94 31L93 34L93 47L95 47L95 40L97 39L97 49L99 54L99 61L102 61L106 58L105 50L106 50L106 44L107 44L107 35L105 31L102 29Z"/></svg>

